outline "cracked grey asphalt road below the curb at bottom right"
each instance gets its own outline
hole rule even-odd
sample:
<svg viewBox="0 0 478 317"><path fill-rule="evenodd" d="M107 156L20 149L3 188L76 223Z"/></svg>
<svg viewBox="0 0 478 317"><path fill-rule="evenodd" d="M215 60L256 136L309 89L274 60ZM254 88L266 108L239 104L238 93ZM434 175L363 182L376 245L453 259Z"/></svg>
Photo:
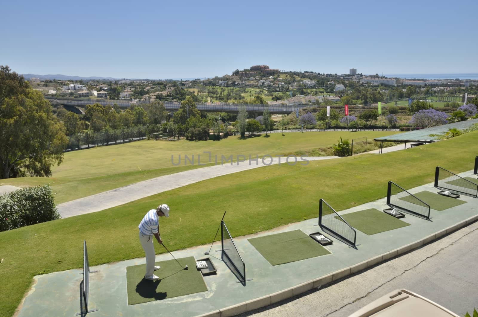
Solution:
<svg viewBox="0 0 478 317"><path fill-rule="evenodd" d="M240 317L348 316L379 297L406 288L459 316L478 309L478 223L348 279Z"/></svg>

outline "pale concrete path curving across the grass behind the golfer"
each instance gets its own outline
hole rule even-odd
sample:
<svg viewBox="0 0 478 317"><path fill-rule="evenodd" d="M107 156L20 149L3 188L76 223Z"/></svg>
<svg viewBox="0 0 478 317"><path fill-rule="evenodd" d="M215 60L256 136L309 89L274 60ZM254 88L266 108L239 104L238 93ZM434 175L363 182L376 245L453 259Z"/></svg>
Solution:
<svg viewBox="0 0 478 317"><path fill-rule="evenodd" d="M294 158L289 159L289 164L309 164L306 160L321 160L337 158L335 156L327 157L304 157L301 160L297 158L295 163ZM306 159L306 160L305 160ZM243 170L256 169L263 166L275 164L287 164L286 158L263 158L259 160L247 159L244 162L225 163L223 165L217 162L218 165L199 168L195 170L186 170L179 173L164 175L153 178L147 181L140 181L134 184L123 186L107 192L100 192L95 195L79 198L57 205L58 212L62 218L71 217L75 215L83 215L105 210L111 207L126 204L140 198L148 197L160 192L170 191L172 189L186 186L198 181L208 180L217 176L237 173Z"/></svg>

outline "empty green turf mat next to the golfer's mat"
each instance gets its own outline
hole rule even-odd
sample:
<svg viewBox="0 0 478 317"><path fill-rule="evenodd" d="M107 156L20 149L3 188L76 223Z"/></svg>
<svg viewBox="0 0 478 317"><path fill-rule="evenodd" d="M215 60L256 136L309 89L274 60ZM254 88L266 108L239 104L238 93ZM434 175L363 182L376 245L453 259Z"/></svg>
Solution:
<svg viewBox="0 0 478 317"><path fill-rule="evenodd" d="M248 241L272 265L315 258L330 253L301 230L250 238Z"/></svg>

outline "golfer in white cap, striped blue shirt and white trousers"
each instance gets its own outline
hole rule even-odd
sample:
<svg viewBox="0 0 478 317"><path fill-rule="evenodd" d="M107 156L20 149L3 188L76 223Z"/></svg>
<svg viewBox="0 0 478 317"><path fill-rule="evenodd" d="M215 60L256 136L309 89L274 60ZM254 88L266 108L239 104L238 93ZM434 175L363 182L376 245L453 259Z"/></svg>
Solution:
<svg viewBox="0 0 478 317"><path fill-rule="evenodd" d="M146 274L144 278L152 281L159 280L159 277L154 275L153 272L161 268L154 265L156 253L154 252L152 237L154 236L158 243L163 243L159 236L159 217L162 216L169 217L169 206L167 204L161 204L158 208L148 211L138 226L141 246L146 254Z"/></svg>

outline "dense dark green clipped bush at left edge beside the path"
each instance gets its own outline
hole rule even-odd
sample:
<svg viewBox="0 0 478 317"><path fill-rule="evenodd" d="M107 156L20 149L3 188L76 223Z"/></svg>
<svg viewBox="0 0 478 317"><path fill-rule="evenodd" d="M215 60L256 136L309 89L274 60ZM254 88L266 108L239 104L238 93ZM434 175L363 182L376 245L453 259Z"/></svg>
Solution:
<svg viewBox="0 0 478 317"><path fill-rule="evenodd" d="M0 196L0 231L59 218L50 185L22 188Z"/></svg>

